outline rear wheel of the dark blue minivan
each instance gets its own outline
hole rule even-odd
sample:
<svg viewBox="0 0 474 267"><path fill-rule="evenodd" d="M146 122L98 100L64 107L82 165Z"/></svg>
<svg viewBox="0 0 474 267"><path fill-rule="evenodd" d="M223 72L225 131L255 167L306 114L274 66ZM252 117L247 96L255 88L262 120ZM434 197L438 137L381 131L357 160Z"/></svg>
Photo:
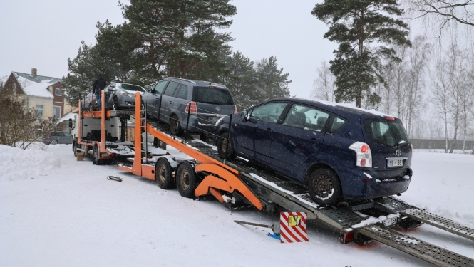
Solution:
<svg viewBox="0 0 474 267"><path fill-rule="evenodd" d="M332 206L341 199L341 182L332 169L316 169L309 177L308 189L311 199L319 206Z"/></svg>

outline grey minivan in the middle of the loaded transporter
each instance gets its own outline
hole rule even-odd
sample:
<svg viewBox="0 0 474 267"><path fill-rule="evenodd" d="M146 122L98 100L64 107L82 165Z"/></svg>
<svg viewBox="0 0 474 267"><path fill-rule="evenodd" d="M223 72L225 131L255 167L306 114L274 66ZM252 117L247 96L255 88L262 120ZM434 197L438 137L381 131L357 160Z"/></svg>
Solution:
<svg viewBox="0 0 474 267"><path fill-rule="evenodd" d="M232 95L224 85L181 78L160 80L150 93L143 94L142 104L146 104L146 115L170 125L173 135L187 129L200 132L202 138L212 136L217 120L237 113ZM142 110L145 115L145 106Z"/></svg>

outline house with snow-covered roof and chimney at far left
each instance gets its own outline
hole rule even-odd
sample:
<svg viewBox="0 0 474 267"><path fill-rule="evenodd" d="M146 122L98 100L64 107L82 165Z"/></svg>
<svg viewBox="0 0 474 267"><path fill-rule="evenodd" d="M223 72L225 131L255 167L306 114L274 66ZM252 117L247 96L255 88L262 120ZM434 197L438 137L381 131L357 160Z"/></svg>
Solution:
<svg viewBox="0 0 474 267"><path fill-rule="evenodd" d="M73 110L66 101L66 90L63 90L62 83L60 78L37 75L36 68L32 68L31 74L11 72L4 92L26 98L27 107L34 108L38 117L60 119Z"/></svg>

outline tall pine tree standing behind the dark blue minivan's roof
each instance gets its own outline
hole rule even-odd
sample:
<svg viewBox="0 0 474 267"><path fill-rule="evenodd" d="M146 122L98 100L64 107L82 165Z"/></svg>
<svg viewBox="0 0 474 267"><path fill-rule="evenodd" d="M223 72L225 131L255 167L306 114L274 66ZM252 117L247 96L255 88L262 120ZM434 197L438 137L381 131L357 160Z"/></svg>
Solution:
<svg viewBox="0 0 474 267"><path fill-rule="evenodd" d="M381 59L398 59L393 49L384 45L410 45L408 25L393 18L403 14L397 1L324 0L311 14L329 25L324 38L339 43L336 57L330 61L336 76L336 101L356 100L356 106L361 107L364 95L371 95L371 101L379 100L369 90L383 83L378 73Z"/></svg>

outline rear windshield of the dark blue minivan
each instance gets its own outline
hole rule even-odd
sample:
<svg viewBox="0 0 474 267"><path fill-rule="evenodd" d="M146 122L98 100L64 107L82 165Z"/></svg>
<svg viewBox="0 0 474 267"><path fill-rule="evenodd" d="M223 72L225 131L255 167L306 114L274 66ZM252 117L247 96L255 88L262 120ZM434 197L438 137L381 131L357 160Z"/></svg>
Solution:
<svg viewBox="0 0 474 267"><path fill-rule="evenodd" d="M364 127L372 142L388 147L409 142L400 120L368 119L364 120Z"/></svg>

